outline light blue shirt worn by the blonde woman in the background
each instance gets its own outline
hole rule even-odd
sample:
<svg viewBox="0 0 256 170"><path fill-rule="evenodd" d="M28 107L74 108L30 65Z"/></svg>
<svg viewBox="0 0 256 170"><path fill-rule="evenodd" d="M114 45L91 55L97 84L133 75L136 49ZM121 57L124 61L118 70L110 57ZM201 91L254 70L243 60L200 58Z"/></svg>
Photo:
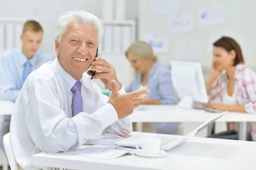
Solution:
<svg viewBox="0 0 256 170"><path fill-rule="evenodd" d="M125 89L133 92L140 88L142 75L137 74L131 84ZM161 101L162 104L177 104L177 94L172 85L171 69L156 61L148 73L148 100Z"/></svg>

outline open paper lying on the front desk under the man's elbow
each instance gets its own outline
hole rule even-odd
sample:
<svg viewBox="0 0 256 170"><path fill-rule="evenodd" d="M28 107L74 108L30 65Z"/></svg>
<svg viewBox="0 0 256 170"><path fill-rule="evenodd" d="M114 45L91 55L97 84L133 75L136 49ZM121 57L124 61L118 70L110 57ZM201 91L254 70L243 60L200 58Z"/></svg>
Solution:
<svg viewBox="0 0 256 170"><path fill-rule="evenodd" d="M121 147L120 147L121 148ZM113 149L113 147L103 147L103 146L83 146L79 150L72 150L64 152L71 155L87 156L90 158L99 158L99 159L113 159L123 156L125 154L134 153L128 150L122 149Z"/></svg>

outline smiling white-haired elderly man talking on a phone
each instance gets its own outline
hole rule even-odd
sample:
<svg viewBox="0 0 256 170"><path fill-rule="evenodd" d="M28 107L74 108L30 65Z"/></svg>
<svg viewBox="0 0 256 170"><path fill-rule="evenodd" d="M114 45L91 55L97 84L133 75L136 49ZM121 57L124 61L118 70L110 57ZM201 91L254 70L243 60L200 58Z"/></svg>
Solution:
<svg viewBox="0 0 256 170"><path fill-rule="evenodd" d="M73 11L59 18L57 58L29 75L11 119L13 152L23 169L37 169L31 165L36 153L76 149L104 133L131 133L128 115L146 100L143 94L149 90L125 94L113 66L95 58L102 36L102 23L93 14ZM92 71L83 75L91 65L101 71L93 78L110 90L107 100L90 80Z"/></svg>

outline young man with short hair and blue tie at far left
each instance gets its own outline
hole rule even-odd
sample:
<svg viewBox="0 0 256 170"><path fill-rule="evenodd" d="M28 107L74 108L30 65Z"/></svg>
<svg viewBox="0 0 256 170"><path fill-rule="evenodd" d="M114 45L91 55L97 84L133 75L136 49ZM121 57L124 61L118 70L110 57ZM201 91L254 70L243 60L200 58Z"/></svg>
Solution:
<svg viewBox="0 0 256 170"><path fill-rule="evenodd" d="M53 60L50 55L38 52L43 39L43 29L38 22L26 21L20 39L22 49L13 49L0 56L0 100L15 102L29 73ZM3 151L3 136L10 131L10 121L11 116L4 115L0 125L0 147Z"/></svg>

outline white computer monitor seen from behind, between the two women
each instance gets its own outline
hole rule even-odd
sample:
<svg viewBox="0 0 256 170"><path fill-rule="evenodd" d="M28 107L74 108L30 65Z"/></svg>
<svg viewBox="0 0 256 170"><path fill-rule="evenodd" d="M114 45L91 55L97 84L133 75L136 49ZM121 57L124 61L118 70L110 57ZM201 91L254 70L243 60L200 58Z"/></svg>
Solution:
<svg viewBox="0 0 256 170"><path fill-rule="evenodd" d="M180 102L178 107L191 109L194 101L208 103L203 71L200 63L172 61L173 86Z"/></svg>

